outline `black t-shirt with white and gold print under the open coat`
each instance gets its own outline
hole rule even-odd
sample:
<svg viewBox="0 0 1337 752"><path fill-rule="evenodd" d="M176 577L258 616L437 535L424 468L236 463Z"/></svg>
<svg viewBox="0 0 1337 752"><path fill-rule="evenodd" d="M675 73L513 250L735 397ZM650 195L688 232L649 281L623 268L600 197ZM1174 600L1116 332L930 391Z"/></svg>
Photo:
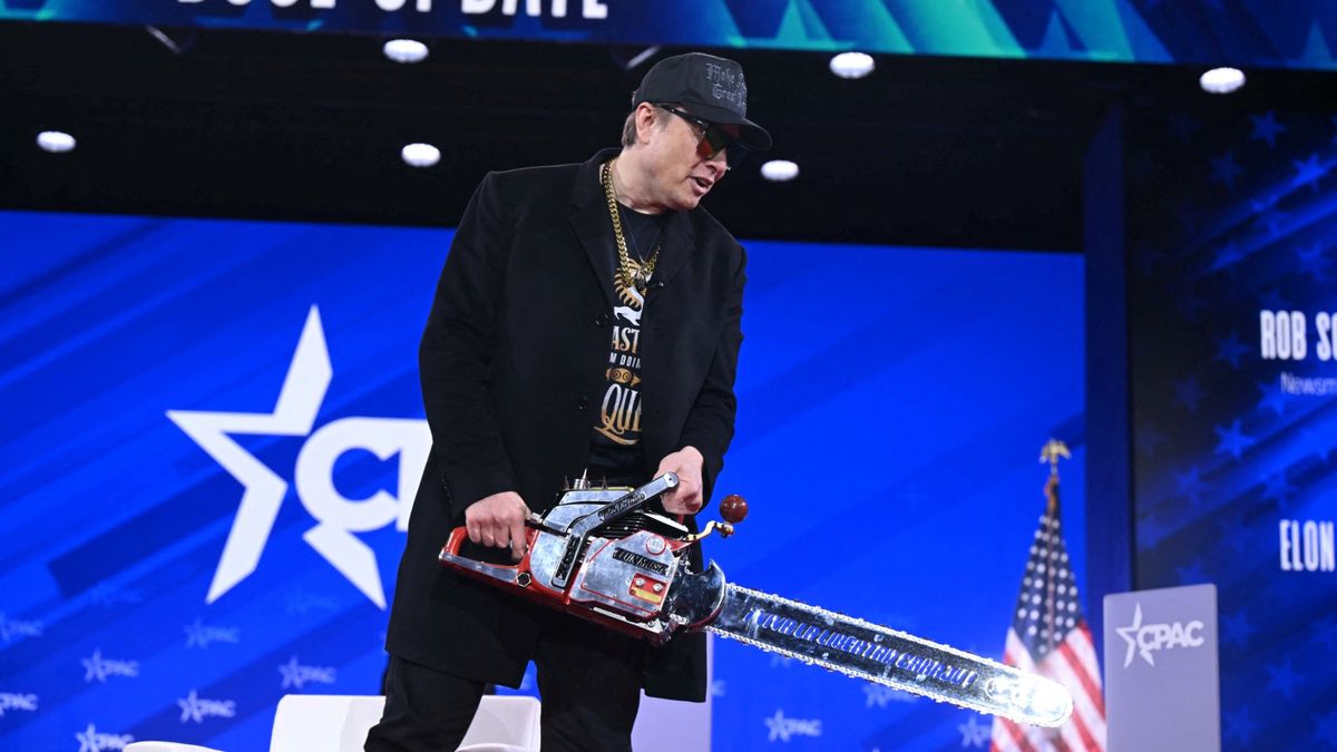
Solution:
<svg viewBox="0 0 1337 752"><path fill-rule="evenodd" d="M627 257L632 273L639 272L659 244L664 214L642 214L622 209L622 231L627 238ZM611 231L611 227L610 227ZM612 340L608 359L602 364L607 384L594 420L590 446L590 478L607 478L615 483L643 482L646 458L640 447L640 316L646 298L635 286L626 286L618 274L618 256L608 260L614 268Z"/></svg>

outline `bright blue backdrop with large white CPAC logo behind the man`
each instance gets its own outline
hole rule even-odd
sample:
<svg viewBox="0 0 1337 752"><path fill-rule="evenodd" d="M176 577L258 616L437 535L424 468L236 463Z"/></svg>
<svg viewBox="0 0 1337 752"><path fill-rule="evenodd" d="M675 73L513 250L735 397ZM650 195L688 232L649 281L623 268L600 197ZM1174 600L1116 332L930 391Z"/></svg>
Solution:
<svg viewBox="0 0 1337 752"><path fill-rule="evenodd" d="M377 692L451 233L0 213L0 748L262 749L282 694ZM1051 435L1084 583L1080 258L747 246L718 487L751 515L707 554L1000 657ZM239 515L254 555L225 563ZM717 749L987 747L985 717L742 645L715 677Z"/></svg>

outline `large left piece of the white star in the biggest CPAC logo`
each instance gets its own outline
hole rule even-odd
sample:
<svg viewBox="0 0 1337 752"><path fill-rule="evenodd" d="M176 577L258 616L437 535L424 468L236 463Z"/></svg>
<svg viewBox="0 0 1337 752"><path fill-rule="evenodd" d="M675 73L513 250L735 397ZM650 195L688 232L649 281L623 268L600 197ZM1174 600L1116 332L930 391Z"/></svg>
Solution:
<svg viewBox="0 0 1337 752"><path fill-rule="evenodd" d="M167 411L172 423L246 487L223 557L209 585L206 603L217 601L259 566L278 507L287 492L287 482L243 450L229 434L306 436L316 424L316 413L325 400L333 375L320 309L313 305L273 412Z"/></svg>

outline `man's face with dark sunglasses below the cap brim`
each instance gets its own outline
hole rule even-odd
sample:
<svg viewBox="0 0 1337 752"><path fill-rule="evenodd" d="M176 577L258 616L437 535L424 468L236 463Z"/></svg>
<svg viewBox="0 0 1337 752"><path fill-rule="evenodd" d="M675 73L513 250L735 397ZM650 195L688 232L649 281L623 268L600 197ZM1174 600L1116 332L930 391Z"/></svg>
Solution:
<svg viewBox="0 0 1337 752"><path fill-rule="evenodd" d="M686 108L674 107L690 115ZM654 108L656 127L646 139L646 165L654 201L662 209L695 209L727 170L726 151L706 155L702 147L705 131L701 124L660 107ZM738 128L723 126L731 136ZM706 154L703 154L706 153Z"/></svg>

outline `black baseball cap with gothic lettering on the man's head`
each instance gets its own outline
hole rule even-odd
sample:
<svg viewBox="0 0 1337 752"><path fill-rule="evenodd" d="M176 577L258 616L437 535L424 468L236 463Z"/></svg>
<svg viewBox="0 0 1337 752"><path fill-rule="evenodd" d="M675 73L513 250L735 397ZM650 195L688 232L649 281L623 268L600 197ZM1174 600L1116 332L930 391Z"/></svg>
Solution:
<svg viewBox="0 0 1337 752"><path fill-rule="evenodd" d="M727 58L687 52L659 60L631 95L632 107L642 102L682 104L703 120L738 126L738 143L742 146L758 151L770 149L766 128L747 119L743 68Z"/></svg>

